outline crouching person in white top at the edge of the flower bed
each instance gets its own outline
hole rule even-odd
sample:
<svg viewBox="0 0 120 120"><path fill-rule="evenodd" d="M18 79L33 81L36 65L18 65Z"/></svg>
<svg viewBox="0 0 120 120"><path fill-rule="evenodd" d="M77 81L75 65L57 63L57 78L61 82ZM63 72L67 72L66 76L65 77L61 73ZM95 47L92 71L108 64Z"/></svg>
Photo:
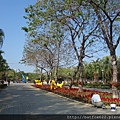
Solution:
<svg viewBox="0 0 120 120"><path fill-rule="evenodd" d="M99 95L99 94L96 94L96 93L94 94L94 93L92 93L92 94L91 94L91 102L92 102L92 104L94 105L94 107L106 109L106 106L105 106L105 104L101 101L101 98L100 98L100 95Z"/></svg>

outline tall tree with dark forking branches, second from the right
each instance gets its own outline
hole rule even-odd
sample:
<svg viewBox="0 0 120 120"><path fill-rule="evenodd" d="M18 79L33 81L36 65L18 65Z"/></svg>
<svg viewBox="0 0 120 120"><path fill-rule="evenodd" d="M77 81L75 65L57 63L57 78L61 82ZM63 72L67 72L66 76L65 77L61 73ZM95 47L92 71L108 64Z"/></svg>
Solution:
<svg viewBox="0 0 120 120"><path fill-rule="evenodd" d="M83 76L83 59L85 57L92 57L92 54L95 53L93 47L97 42L97 38L94 37L94 34L98 27L92 21L91 9L89 6L86 9L86 6L82 5L82 2L82 0L51 2L54 5L53 9L51 8L54 11L53 13L58 12L52 18L63 26L63 29L66 29L69 42L72 44L75 52L77 67L73 74L73 80L76 79L76 75L79 72L81 81ZM96 19L95 17L93 18Z"/></svg>

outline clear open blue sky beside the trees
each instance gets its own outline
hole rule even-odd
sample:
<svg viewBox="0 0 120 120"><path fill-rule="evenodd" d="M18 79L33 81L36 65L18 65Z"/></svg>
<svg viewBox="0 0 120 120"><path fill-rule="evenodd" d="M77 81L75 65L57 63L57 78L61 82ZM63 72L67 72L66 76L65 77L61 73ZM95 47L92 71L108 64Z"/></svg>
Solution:
<svg viewBox="0 0 120 120"><path fill-rule="evenodd" d="M2 50L3 57L7 60L10 68L20 69L25 72L33 72L34 68L19 64L22 59L23 47L25 43L25 32L21 27L26 26L23 18L24 8L35 4L37 0L0 0L0 28L5 32L5 41ZM120 45L116 50L120 57ZM108 54L109 55L109 54Z"/></svg>

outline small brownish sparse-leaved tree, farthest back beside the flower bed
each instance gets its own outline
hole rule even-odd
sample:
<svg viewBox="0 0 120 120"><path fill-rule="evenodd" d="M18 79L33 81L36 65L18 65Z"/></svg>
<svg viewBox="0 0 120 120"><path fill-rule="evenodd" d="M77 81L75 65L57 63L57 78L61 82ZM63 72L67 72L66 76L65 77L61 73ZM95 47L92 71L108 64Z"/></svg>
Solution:
<svg viewBox="0 0 120 120"><path fill-rule="evenodd" d="M41 45L42 44L39 44L39 42L27 40L24 46L23 58L21 60L22 63L26 65L34 66L37 72L41 71L40 78L42 78L43 70L48 72L48 63L46 62L48 53Z"/></svg>

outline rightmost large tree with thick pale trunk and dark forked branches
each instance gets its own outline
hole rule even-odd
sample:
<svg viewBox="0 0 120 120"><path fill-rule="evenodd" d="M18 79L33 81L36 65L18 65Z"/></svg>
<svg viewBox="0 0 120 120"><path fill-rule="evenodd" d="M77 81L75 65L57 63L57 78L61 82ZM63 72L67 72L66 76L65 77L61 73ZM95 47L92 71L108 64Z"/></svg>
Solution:
<svg viewBox="0 0 120 120"><path fill-rule="evenodd" d="M98 18L103 40L111 56L112 82L118 82L116 48L120 43L120 2L119 0L89 0ZM113 98L118 98L118 90L112 86Z"/></svg>

